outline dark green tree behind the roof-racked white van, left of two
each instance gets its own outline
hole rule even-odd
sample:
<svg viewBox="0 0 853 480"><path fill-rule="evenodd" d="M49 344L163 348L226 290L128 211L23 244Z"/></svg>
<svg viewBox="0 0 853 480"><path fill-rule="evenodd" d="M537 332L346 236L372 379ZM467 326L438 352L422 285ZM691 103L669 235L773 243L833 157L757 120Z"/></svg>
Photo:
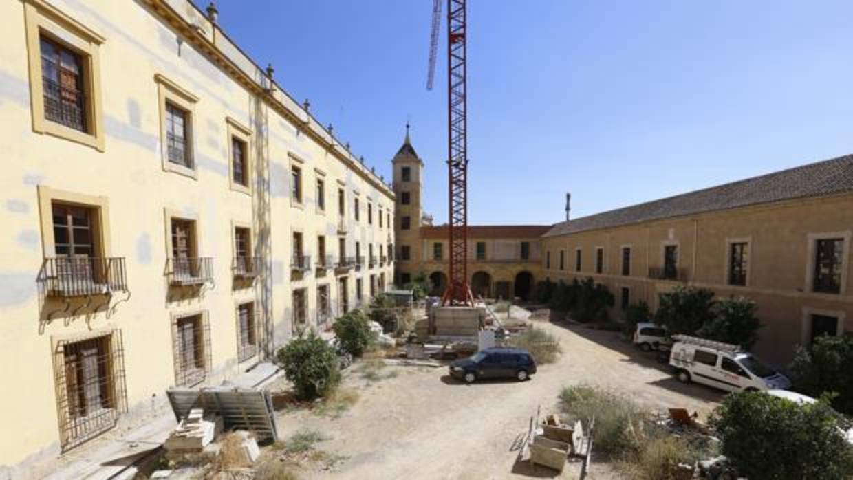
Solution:
<svg viewBox="0 0 853 480"><path fill-rule="evenodd" d="M714 292L705 288L676 286L672 292L660 294L654 321L666 327L670 335L695 335L699 328L713 319L713 298Z"/></svg>

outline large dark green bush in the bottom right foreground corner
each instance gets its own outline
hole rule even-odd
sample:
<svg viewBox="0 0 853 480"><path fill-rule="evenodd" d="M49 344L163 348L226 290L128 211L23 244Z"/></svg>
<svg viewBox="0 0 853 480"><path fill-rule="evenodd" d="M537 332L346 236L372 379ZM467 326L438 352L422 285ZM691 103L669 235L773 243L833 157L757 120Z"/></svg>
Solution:
<svg viewBox="0 0 853 480"><path fill-rule="evenodd" d="M751 480L853 475L853 450L826 402L798 404L763 392L726 396L711 426L741 476Z"/></svg>

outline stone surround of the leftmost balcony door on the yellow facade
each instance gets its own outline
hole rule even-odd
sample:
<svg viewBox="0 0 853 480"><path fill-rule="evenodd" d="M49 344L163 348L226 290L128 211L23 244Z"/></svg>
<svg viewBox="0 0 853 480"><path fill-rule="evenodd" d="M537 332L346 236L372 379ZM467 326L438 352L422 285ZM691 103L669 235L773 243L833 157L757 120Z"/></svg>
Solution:
<svg viewBox="0 0 853 480"><path fill-rule="evenodd" d="M96 257L112 257L110 247L109 199L105 196L78 194L67 190L38 185L38 213L42 229L42 254L44 258L55 257L53 230L54 202L90 208L95 213L98 234Z"/></svg>

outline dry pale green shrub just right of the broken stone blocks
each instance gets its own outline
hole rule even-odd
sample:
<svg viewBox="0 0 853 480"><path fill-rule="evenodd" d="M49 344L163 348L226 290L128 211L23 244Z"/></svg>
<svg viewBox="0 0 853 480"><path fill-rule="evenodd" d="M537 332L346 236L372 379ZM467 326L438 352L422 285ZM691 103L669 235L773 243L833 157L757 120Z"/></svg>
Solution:
<svg viewBox="0 0 853 480"><path fill-rule="evenodd" d="M595 417L593 445L605 454L635 452L641 445L638 432L647 412L625 396L588 385L573 385L560 392L560 409L572 421L587 425Z"/></svg>

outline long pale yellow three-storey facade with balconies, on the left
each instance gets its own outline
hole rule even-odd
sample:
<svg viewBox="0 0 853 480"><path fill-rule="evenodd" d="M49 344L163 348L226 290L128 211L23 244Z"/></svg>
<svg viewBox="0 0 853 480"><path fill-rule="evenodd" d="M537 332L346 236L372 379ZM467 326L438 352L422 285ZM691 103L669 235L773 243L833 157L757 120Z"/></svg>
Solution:
<svg viewBox="0 0 853 480"><path fill-rule="evenodd" d="M215 12L0 15L0 466L269 361L391 283L392 188Z"/></svg>

